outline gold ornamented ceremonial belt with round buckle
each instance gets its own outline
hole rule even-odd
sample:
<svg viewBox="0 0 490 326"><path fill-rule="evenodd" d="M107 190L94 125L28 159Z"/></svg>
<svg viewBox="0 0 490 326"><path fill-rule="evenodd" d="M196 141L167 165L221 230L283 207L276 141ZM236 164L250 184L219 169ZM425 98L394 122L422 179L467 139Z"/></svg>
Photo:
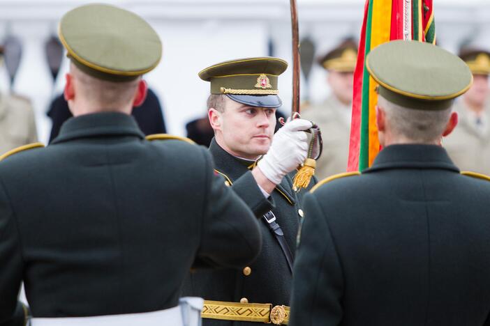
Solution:
<svg viewBox="0 0 490 326"><path fill-rule="evenodd" d="M205 300L201 317L288 325L289 310L288 306L272 306L272 304Z"/></svg>

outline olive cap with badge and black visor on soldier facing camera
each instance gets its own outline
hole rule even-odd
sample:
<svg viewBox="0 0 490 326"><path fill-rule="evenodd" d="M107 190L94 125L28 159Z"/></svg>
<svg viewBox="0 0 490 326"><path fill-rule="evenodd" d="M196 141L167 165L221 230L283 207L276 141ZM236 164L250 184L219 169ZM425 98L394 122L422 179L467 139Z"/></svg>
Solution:
<svg viewBox="0 0 490 326"><path fill-rule="evenodd" d="M199 72L209 81L211 94L225 94L236 102L253 107L280 107L278 77L288 63L271 56L225 61Z"/></svg>

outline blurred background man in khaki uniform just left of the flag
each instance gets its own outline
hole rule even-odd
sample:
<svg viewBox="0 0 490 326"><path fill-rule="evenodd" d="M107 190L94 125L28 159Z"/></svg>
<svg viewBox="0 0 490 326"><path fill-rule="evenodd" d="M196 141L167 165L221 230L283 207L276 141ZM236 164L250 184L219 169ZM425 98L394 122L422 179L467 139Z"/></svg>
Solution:
<svg viewBox="0 0 490 326"><path fill-rule="evenodd" d="M351 40L342 42L322 56L319 63L327 70L327 82L332 93L325 102L302 111L302 118L315 121L323 130L323 152L315 169L319 179L347 169L356 62L357 45Z"/></svg>

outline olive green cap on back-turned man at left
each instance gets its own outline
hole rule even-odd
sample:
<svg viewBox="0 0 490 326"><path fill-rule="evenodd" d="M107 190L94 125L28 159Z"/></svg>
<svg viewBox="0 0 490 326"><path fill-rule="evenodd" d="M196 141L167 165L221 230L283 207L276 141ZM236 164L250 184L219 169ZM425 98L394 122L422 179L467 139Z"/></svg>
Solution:
<svg viewBox="0 0 490 326"><path fill-rule="evenodd" d="M160 38L147 22L106 4L68 11L59 22L58 33L71 61L99 79L136 79L153 70L162 56Z"/></svg>

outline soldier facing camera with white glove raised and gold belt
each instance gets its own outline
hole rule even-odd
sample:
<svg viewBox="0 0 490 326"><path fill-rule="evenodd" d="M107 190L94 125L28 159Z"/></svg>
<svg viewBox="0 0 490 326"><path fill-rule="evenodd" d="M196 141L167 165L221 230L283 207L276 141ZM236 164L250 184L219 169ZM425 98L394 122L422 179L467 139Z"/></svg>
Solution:
<svg viewBox="0 0 490 326"><path fill-rule="evenodd" d="M248 58L199 73L211 86L207 106L215 137L209 152L216 172L260 218L263 239L252 264L190 274L184 293L205 298L205 326L288 322L292 261L303 215L288 173L306 158L304 130L312 123L295 119L274 134L281 106L278 76L287 66L272 57Z"/></svg>

